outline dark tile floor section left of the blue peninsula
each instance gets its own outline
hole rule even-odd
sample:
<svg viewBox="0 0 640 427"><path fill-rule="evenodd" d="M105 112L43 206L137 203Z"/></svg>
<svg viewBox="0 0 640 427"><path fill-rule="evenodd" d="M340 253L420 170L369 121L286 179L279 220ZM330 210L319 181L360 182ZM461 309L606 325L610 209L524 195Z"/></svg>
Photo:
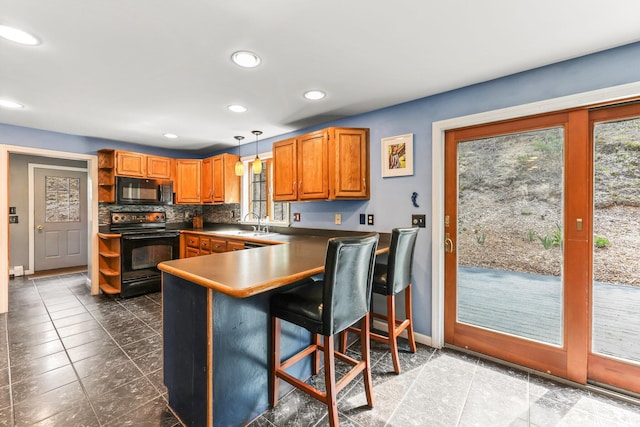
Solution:
<svg viewBox="0 0 640 427"><path fill-rule="evenodd" d="M82 273L9 285L0 425L174 426L162 383L161 294L91 296Z"/></svg>

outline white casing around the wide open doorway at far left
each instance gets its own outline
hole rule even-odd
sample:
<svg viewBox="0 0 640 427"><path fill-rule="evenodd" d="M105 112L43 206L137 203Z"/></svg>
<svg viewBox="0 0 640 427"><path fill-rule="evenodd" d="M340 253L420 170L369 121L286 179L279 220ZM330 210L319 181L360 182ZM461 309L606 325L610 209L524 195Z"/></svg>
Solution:
<svg viewBox="0 0 640 427"><path fill-rule="evenodd" d="M2 141L0 141L2 142ZM69 153L41 148L22 147L0 144L0 189L4 197L0 197L0 313L9 311L9 154L25 154L32 156L54 157L58 159L85 160L89 169L90 196L98 194L98 156ZM97 295L98 287L98 198L87 200L90 206L89 220L89 258L88 274L91 282L91 294Z"/></svg>

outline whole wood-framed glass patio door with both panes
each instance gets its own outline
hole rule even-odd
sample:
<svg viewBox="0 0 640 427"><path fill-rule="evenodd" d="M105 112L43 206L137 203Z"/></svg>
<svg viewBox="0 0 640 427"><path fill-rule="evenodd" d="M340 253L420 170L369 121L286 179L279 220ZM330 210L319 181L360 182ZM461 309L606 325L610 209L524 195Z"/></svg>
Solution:
<svg viewBox="0 0 640 427"><path fill-rule="evenodd" d="M620 272L640 253L640 107L445 144L445 342L640 392L640 274Z"/></svg>

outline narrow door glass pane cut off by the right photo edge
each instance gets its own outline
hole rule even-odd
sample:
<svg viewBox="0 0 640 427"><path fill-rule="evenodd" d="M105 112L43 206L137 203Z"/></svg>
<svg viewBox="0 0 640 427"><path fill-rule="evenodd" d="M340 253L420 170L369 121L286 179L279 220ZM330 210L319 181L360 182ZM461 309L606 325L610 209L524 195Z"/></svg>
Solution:
<svg viewBox="0 0 640 427"><path fill-rule="evenodd" d="M593 353L640 363L640 118L594 126Z"/></svg>

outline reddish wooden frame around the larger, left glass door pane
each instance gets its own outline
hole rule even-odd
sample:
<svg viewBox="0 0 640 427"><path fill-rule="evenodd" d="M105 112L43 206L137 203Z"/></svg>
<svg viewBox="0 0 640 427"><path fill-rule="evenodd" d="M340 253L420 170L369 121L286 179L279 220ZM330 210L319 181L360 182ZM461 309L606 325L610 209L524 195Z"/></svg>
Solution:
<svg viewBox="0 0 640 427"><path fill-rule="evenodd" d="M458 145L465 141L474 141L501 135L523 134L541 129L563 129L563 198L560 206L563 213L562 228L564 232L564 252L584 252L587 245L588 231L591 229L587 220L588 186L584 185L585 179L590 173L585 172L584 157L587 150L581 145L586 141L586 128L588 111L585 108L575 111L560 111L547 114L522 117L516 120L488 123L463 129L448 131L446 134L445 149L445 181L448 179L454 185L446 193L445 212L450 216L450 226L446 231L453 239L453 246L458 240L458 186L455 184L458 177ZM577 122L577 123L576 123ZM577 124L577 126L576 126ZM579 129L584 129L579 132ZM577 173L574 173L573 170ZM567 173L569 172L569 173ZM585 176L587 175L587 176ZM578 193L577 197L574 194ZM448 202L447 202L448 200ZM575 231L575 218L584 220L584 227L579 232ZM588 250L588 246L587 246ZM499 359L507 360L519 365L527 366L551 375L570 379L584 384L586 382L586 346L587 346L587 317L582 315L585 304L581 304L579 290L584 287L585 279L580 277L585 266L577 262L563 262L562 267L562 345L551 345L537 342L523 337L505 334L501 331L490 331L472 324L459 323L457 314L457 285L456 274L458 268L457 250L445 255L448 266L445 265L445 274L448 280L449 297L445 298L445 339L457 347L465 347L470 350L487 354ZM563 255L566 259L567 257ZM589 257L580 258L583 263L588 263ZM447 283L445 283L445 287ZM583 295L583 298L586 296ZM448 320L447 320L448 319Z"/></svg>

